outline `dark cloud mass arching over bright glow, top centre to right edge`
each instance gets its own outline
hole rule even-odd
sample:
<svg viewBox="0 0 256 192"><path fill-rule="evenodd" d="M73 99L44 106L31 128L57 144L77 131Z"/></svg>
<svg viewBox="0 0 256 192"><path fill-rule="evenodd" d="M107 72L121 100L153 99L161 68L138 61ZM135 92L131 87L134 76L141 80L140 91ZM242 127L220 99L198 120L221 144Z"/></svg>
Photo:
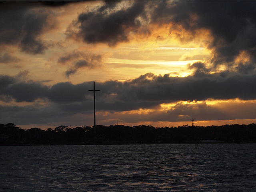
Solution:
<svg viewBox="0 0 256 192"><path fill-rule="evenodd" d="M135 1L129 6L113 2L81 13L74 25L78 30L68 30L68 34L86 43L114 46L128 42L131 34L149 36L152 24L168 24L166 30L181 42L193 41L199 30L207 30L212 36L206 41L212 50L212 57L204 63L208 71L216 72L224 65L247 74L256 67L255 8L254 1ZM250 60L239 60L244 53Z"/></svg>

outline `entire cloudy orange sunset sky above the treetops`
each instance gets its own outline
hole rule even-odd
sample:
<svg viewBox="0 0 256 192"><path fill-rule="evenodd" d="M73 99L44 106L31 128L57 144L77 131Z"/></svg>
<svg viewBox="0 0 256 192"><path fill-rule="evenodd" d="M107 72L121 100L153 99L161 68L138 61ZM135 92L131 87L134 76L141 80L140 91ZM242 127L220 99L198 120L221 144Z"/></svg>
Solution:
<svg viewBox="0 0 256 192"><path fill-rule="evenodd" d="M255 1L0 3L0 123L256 122Z"/></svg>

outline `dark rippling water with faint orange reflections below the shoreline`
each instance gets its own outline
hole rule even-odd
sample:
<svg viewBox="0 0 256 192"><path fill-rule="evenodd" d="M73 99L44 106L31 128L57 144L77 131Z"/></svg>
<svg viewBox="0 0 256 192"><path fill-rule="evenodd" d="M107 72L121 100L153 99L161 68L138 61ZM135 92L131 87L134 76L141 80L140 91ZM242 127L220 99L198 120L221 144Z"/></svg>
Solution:
<svg viewBox="0 0 256 192"><path fill-rule="evenodd" d="M0 191L255 192L256 144L0 146Z"/></svg>

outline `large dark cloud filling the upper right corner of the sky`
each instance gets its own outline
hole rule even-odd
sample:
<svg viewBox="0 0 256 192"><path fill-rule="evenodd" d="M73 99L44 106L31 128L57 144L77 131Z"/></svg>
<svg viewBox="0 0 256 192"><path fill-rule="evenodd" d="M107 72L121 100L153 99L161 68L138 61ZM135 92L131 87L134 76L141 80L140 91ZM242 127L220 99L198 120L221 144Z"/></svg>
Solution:
<svg viewBox="0 0 256 192"><path fill-rule="evenodd" d="M252 62L240 65L237 70L246 73L255 69L256 2L174 1L155 4L154 22L179 24L194 35L198 29L210 30L213 40L208 48L214 53L213 68L224 63L232 65L240 52L246 51L251 54Z"/></svg>

